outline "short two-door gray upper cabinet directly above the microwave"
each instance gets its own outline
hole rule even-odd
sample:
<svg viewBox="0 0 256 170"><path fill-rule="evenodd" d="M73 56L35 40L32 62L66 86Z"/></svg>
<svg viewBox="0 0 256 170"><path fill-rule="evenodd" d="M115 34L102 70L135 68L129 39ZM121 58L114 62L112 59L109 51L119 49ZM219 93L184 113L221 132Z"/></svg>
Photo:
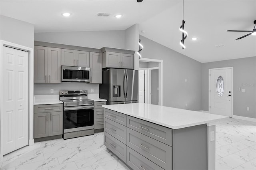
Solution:
<svg viewBox="0 0 256 170"><path fill-rule="evenodd" d="M90 52L61 49L61 65L90 67Z"/></svg>

